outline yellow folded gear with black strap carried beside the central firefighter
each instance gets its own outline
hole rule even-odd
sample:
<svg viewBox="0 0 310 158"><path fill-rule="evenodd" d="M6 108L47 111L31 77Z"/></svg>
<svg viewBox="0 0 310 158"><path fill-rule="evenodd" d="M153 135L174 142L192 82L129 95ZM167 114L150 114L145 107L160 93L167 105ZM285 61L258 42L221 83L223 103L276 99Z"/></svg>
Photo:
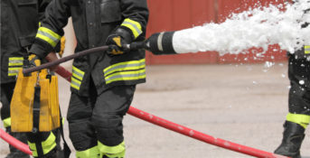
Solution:
<svg viewBox="0 0 310 158"><path fill-rule="evenodd" d="M38 62L35 60L37 66ZM37 112L33 102L38 103ZM11 101L12 131L48 132L60 127L60 118L57 76L41 70L25 77L23 70L19 70Z"/></svg>

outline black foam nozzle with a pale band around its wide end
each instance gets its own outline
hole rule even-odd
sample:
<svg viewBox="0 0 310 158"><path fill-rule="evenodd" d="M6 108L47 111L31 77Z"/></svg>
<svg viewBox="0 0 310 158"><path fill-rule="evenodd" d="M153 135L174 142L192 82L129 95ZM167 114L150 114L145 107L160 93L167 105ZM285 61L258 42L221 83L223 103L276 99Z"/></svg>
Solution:
<svg viewBox="0 0 310 158"><path fill-rule="evenodd" d="M174 32L155 33L145 42L133 42L124 46L127 50L145 49L155 55L176 54L174 51Z"/></svg>

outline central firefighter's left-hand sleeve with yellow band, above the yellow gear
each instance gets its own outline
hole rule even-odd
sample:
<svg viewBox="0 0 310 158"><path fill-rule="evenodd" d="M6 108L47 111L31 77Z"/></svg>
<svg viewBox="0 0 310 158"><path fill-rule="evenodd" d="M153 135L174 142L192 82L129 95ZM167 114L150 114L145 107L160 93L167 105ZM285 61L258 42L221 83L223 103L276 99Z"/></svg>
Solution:
<svg viewBox="0 0 310 158"><path fill-rule="evenodd" d="M31 52L40 59L55 50L63 36L62 28L68 23L70 17L69 0L54 0L47 6L45 17L35 36Z"/></svg>

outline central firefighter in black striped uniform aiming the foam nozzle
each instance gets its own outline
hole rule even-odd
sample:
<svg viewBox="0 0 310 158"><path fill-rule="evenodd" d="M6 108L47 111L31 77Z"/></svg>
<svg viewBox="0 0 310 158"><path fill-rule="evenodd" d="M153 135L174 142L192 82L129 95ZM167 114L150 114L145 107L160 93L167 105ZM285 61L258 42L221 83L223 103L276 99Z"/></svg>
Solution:
<svg viewBox="0 0 310 158"><path fill-rule="evenodd" d="M31 52L42 59L52 51L70 16L75 51L113 45L73 61L67 119L76 157L122 158L123 116L136 84L146 82L145 51L125 51L123 46L144 40L146 0L53 0Z"/></svg>

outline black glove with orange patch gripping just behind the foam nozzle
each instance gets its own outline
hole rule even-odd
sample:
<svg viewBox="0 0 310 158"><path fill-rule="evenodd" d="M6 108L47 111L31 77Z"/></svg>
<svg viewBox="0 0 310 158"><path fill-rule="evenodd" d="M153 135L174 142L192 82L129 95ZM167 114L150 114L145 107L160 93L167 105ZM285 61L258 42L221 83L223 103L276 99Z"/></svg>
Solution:
<svg viewBox="0 0 310 158"><path fill-rule="evenodd" d="M132 42L131 34L127 30L118 28L115 33L108 35L106 44L109 46L108 55L120 55L128 51L124 46Z"/></svg>

